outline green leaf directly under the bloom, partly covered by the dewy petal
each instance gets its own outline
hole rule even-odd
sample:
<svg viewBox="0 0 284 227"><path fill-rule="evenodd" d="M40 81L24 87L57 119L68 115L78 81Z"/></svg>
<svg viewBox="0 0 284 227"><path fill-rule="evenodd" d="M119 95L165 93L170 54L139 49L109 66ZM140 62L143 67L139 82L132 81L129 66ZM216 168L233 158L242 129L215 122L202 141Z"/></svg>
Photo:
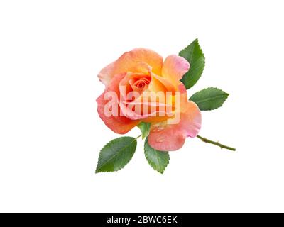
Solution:
<svg viewBox="0 0 284 227"><path fill-rule="evenodd" d="M166 151L155 150L148 144L148 138L145 140L144 153L148 163L154 170L163 173L165 167L170 162L170 155Z"/></svg>

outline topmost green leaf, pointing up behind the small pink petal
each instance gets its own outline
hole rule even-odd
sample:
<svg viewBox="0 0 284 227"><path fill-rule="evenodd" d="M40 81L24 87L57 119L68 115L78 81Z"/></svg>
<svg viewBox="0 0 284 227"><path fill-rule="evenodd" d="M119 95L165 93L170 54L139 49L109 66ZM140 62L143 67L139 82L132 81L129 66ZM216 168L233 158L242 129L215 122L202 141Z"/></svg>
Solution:
<svg viewBox="0 0 284 227"><path fill-rule="evenodd" d="M190 62L190 70L181 79L186 89L190 89L200 79L205 66L205 57L198 40L196 39L190 43L190 45L180 51L179 55Z"/></svg>

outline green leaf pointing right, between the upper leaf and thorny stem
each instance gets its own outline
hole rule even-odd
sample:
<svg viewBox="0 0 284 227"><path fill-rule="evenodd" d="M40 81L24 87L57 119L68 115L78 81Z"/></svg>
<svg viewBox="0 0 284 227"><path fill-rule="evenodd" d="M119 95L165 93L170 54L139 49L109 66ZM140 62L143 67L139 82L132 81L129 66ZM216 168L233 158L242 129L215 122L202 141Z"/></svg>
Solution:
<svg viewBox="0 0 284 227"><path fill-rule="evenodd" d="M220 89L209 87L193 94L190 101L194 101L201 111L211 111L221 107L228 96Z"/></svg>

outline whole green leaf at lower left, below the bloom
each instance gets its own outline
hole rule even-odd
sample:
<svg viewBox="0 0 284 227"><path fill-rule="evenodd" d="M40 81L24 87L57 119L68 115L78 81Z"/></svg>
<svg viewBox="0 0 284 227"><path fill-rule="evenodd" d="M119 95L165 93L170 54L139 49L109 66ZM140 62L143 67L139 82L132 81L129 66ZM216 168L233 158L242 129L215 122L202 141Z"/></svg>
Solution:
<svg viewBox="0 0 284 227"><path fill-rule="evenodd" d="M121 170L133 157L136 145L136 138L129 136L111 140L99 153L96 173Z"/></svg>

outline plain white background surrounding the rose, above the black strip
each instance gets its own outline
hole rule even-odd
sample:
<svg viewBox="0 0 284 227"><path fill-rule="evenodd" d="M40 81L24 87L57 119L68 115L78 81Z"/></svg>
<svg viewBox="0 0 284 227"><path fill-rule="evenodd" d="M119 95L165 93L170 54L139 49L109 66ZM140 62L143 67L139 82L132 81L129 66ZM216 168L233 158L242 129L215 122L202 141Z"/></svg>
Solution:
<svg viewBox="0 0 284 227"><path fill-rule="evenodd" d="M283 1L0 1L0 211L284 211ZM199 38L204 87L230 94L164 175L143 156L94 174L118 137L97 73L132 48ZM128 135L137 136L133 129Z"/></svg>

